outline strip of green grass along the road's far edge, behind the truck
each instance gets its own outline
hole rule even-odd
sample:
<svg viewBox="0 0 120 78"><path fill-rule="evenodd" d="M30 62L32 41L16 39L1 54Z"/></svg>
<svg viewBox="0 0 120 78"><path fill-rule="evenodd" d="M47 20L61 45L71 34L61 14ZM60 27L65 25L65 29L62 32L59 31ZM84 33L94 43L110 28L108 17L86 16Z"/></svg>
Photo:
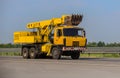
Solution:
<svg viewBox="0 0 120 78"><path fill-rule="evenodd" d="M0 56L20 56L20 52L0 52ZM81 53L81 58L120 58L119 53Z"/></svg>

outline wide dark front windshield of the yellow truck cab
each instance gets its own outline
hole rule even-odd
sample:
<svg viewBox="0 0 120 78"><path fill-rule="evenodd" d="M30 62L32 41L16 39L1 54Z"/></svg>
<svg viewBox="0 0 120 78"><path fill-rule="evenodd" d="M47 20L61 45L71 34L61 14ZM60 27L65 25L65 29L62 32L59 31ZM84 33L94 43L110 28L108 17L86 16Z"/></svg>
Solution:
<svg viewBox="0 0 120 78"><path fill-rule="evenodd" d="M84 31L77 28L64 28L63 34L64 36L84 36Z"/></svg>

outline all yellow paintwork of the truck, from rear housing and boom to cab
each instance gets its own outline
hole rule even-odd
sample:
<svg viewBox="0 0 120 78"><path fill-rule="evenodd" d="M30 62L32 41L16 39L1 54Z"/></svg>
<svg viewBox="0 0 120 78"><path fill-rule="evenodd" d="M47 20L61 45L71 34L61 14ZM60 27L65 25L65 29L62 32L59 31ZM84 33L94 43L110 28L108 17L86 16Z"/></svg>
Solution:
<svg viewBox="0 0 120 78"><path fill-rule="evenodd" d="M39 22L32 22L27 24L27 28L34 29L35 32L28 31L17 31L14 32L14 43L20 44L33 44L33 43L44 43L41 47L42 52L50 55L51 47L53 45L64 45L64 39L66 39L66 46L73 46L73 42L79 42L79 46L86 45L86 37L57 37L57 30L64 28L79 28L78 26L71 26L70 19L66 20L70 15L63 15L61 18L52 18L50 20L44 20ZM49 34L54 30L54 41L50 43ZM62 32L63 34L63 32Z"/></svg>

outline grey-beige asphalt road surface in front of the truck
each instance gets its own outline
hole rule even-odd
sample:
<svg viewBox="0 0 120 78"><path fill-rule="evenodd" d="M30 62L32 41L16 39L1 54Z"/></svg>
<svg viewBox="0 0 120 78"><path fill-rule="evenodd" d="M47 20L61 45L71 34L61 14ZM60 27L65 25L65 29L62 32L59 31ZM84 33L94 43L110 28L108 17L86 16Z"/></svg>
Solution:
<svg viewBox="0 0 120 78"><path fill-rule="evenodd" d="M0 56L0 78L120 78L119 58L61 60Z"/></svg>

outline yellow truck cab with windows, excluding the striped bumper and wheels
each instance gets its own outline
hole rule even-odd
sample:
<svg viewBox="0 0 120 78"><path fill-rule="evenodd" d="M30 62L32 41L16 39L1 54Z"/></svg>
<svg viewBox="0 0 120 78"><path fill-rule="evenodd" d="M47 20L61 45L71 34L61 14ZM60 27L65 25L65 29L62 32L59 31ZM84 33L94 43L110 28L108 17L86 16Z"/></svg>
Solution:
<svg viewBox="0 0 120 78"><path fill-rule="evenodd" d="M85 30L79 27L64 26L54 29L54 45L84 47L86 44ZM77 44L74 44L77 42Z"/></svg>

